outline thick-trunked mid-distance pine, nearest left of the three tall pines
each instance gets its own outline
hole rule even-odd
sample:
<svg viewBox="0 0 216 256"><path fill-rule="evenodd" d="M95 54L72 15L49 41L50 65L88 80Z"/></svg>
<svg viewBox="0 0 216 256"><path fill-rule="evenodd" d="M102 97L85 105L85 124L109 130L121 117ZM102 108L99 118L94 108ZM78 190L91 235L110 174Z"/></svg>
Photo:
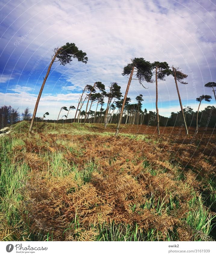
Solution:
<svg viewBox="0 0 216 256"><path fill-rule="evenodd" d="M106 93L106 97L108 97L108 102L107 102L107 108L106 108L106 113L105 113L105 119L104 119L104 126L105 128L107 127L108 123L108 110L110 108L111 102L113 99L121 99L122 93L121 93L121 86L119 86L116 82L111 83L111 86L109 87L110 91L109 93Z"/></svg>

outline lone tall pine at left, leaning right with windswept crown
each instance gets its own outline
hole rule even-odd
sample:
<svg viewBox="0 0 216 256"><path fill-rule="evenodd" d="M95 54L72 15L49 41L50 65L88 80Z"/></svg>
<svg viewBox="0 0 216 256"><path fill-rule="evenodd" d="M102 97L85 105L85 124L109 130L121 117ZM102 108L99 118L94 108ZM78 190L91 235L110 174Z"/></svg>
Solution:
<svg viewBox="0 0 216 256"><path fill-rule="evenodd" d="M58 60L56 60L56 58ZM31 125L30 125L30 128L29 128L30 132L32 131L32 128L33 128L34 118L36 117L36 112L37 112L38 104L39 104L39 101L40 101L40 97L41 97L44 85L46 83L47 77L49 75L50 69L52 67L52 64L56 61L59 61L60 65L64 66L67 63L70 63L73 60L73 58L77 58L77 60L79 62L81 61L85 64L88 61L88 58L86 57L86 53L79 50L74 43L66 43L64 46L61 46L60 48L55 48L54 49L54 54L52 55L52 61L49 64L49 68L46 72L45 78L43 80L43 83L42 83L42 86L41 86L41 89L39 91L38 98L37 98L37 101L36 101L36 104L35 104L35 108L34 108L34 112L33 112L33 116L32 116L32 121L31 121Z"/></svg>

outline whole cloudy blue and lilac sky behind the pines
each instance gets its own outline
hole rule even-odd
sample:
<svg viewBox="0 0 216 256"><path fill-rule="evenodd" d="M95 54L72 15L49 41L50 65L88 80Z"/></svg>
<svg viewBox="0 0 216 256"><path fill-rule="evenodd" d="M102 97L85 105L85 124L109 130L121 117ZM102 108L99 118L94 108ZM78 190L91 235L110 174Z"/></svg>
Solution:
<svg viewBox="0 0 216 256"><path fill-rule="evenodd" d="M77 106L85 85L96 81L106 90L117 82L124 95L128 78L121 73L135 57L167 62L188 75L188 84L179 84L183 106L196 111L196 98L202 94L212 100L202 102L201 110L215 106L211 88L204 87L216 82L215 14L215 0L2 0L0 106L11 105L20 113L29 107L33 112L53 49L67 42L86 52L88 62L53 64L36 116L49 112L49 119L57 119L62 106ZM142 94L142 109L156 111L155 83L144 84L149 88L132 80L128 97L136 103ZM167 117L180 111L171 76L158 81L158 109Z"/></svg>

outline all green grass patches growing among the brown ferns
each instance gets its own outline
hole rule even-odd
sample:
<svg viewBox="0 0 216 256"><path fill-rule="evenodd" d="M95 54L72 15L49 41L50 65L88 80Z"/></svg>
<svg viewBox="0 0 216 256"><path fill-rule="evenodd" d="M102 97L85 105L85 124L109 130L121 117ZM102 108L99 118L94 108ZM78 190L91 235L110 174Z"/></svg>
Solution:
<svg viewBox="0 0 216 256"><path fill-rule="evenodd" d="M25 153L25 142L24 140L31 140L31 136L36 139L37 146L49 146L48 142L42 141L41 137L37 132L43 134L72 134L72 135L82 135L82 134L96 134L101 136L108 136L112 138L114 132L98 132L94 131L97 128L102 129L102 125L95 124L52 124L52 123L37 123L34 127L34 135L28 134L29 123L20 122L13 126L11 134L0 137L0 161L1 161L1 178L0 178L0 213L4 216L4 221L6 221L8 226L17 226L21 225L23 238L25 240L29 237L30 240L39 240L39 241L50 241L52 240L52 231L44 234L33 235L28 228L28 222L22 218L23 203L25 198L23 198L22 189L25 187L26 182L31 177L31 169L25 163L23 159L15 158L15 148L20 147L20 151ZM116 125L111 124L110 127L116 127ZM121 133L120 136L130 138L131 140L136 141L145 141L151 144L157 144L158 141L153 141L148 135L135 135L135 134L126 134ZM46 174L47 178L64 178L69 174L74 174L74 179L77 181L89 182L91 179L92 172L98 172L97 165L93 160L89 160L84 163L83 167L80 168L79 165L75 163L70 163L65 154L67 152L72 153L73 155L82 158L83 149L80 147L79 143L74 143L68 138L58 138L55 141L57 150L54 152L50 151L41 151L37 155L45 163L47 163ZM62 146L62 147L61 147ZM104 146L105 147L105 146ZM61 149L60 149L61 148ZM143 167L145 172L150 173L151 175L158 175L164 172L167 172L166 169L162 168L153 168L151 163L145 159L143 156ZM129 159L126 159L126 162L129 162ZM184 175L178 168L178 165L170 166L174 169L175 180L182 181L184 180ZM188 225L194 232L194 240L196 241L205 241L212 239L212 229L215 223L215 216L212 215L211 210L215 210L216 202L216 193L215 193L215 180L212 178L205 181L206 186L204 191L200 194L196 193L191 189L192 199L189 201L190 210L183 217L185 225ZM166 191L166 195L169 196L169 202L165 202L163 197L156 198L155 194L152 193L145 203L142 205L143 209L148 209L153 211L158 216L166 213L167 215L174 209L178 209L182 202L178 200L170 191ZM132 212L137 211L136 205L131 205ZM73 225L72 225L73 224ZM79 216L75 217L73 223L71 223L71 228L78 229ZM99 226L93 226L92 230L97 229L98 235L96 237L97 241L160 241L161 233L156 229L149 229L144 231L139 229L139 226L134 223L129 225L127 223L116 224L111 223L102 223ZM4 239L4 238L3 238ZM167 241L177 241L178 235L177 232L167 232L166 234Z"/></svg>

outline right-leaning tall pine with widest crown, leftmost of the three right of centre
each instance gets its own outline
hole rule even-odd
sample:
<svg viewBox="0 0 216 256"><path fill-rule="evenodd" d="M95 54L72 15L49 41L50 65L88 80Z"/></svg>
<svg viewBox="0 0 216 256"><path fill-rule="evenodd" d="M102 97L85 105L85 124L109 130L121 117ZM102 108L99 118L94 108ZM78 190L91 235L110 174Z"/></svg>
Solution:
<svg viewBox="0 0 216 256"><path fill-rule="evenodd" d="M123 111L124 111L124 105L125 105L125 101L127 98L127 93L130 87L130 83L133 77L133 72L136 72L136 78L139 80L139 84L141 84L144 88L146 88L142 82L146 81L148 83L152 83L152 65L150 62L145 61L143 58L134 58L131 60L132 63L127 64L127 66L124 67L123 73L122 75L130 75L129 81L127 83L127 88L126 88L126 92L124 95L124 100L122 103L122 107L121 107L121 112L119 115L119 120L118 120L118 124L117 124L117 128L116 128L116 133L115 136L118 135L119 133L119 127L121 125L121 120L122 120L122 116L123 116ZM135 70L135 71L134 71Z"/></svg>

